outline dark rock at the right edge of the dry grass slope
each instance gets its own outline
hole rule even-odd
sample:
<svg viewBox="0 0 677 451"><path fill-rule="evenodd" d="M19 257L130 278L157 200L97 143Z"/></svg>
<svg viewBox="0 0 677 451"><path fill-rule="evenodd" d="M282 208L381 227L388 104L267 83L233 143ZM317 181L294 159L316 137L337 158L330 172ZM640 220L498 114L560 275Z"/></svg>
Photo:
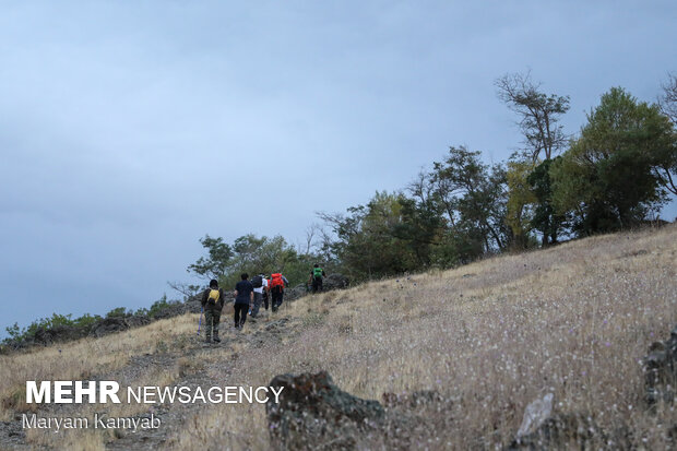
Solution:
<svg viewBox="0 0 677 451"><path fill-rule="evenodd" d="M644 358L644 401L653 406L660 400L672 403L677 394L677 327L665 342L652 343Z"/></svg>

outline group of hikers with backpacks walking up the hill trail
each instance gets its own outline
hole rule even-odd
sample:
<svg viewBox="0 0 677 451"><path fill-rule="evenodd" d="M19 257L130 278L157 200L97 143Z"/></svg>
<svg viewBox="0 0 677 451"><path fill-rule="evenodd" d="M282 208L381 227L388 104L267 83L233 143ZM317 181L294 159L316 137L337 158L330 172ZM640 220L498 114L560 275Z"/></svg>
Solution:
<svg viewBox="0 0 677 451"><path fill-rule="evenodd" d="M324 270L316 263L310 272L308 285L311 286L312 293L322 290L322 278L325 276ZM247 316L257 318L261 304L264 305L265 310L269 307L269 300L271 309L276 312L282 300L284 298L284 289L289 286L287 277L282 275L281 272L265 276L258 274L249 280L249 274L242 273L240 281L235 284L233 290L234 296L234 322L235 329L241 330L247 321ZM207 343L219 343L218 337L218 324L221 322L221 312L226 304L226 295L223 288L218 287L218 281L212 280L209 288L202 293L202 309L204 311L204 337ZM202 317L200 317L202 321ZM200 333L200 327L198 327L198 333Z"/></svg>

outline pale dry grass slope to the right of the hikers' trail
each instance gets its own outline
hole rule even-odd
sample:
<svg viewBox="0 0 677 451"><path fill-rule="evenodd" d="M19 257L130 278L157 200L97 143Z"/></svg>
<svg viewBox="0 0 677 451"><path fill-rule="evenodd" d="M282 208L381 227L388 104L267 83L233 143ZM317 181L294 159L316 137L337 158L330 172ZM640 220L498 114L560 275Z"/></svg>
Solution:
<svg viewBox="0 0 677 451"><path fill-rule="evenodd" d="M436 390L448 410L412 441L431 449L504 446L525 406L549 391L556 412L667 448L677 415L642 411L640 359L677 323L676 236L675 227L601 236L305 298L287 310L300 336L250 349L229 382L325 369L368 399ZM177 434L177 449L270 447L263 407L207 408L200 427Z"/></svg>

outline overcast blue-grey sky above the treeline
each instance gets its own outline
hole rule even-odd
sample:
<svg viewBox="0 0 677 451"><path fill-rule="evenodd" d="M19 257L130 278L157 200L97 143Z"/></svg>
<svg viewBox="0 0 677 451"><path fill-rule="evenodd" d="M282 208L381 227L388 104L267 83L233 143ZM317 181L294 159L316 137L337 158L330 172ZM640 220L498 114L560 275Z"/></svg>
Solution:
<svg viewBox="0 0 677 451"><path fill-rule="evenodd" d="M613 86L654 102L676 23L672 0L3 1L0 336L178 298L205 234L300 244L450 145L504 161L506 73L571 96L571 134Z"/></svg>

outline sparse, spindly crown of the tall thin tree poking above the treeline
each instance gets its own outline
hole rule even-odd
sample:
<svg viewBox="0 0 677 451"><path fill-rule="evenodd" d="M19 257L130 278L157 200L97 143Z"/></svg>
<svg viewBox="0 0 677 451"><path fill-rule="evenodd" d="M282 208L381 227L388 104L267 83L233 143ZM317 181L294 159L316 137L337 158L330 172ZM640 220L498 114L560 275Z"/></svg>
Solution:
<svg viewBox="0 0 677 451"><path fill-rule="evenodd" d="M495 82L500 98L520 117L524 134L524 153L533 163L543 153L550 159L567 143L567 135L558 124L559 117L569 110L569 96L547 95L539 91L531 73L506 74Z"/></svg>

